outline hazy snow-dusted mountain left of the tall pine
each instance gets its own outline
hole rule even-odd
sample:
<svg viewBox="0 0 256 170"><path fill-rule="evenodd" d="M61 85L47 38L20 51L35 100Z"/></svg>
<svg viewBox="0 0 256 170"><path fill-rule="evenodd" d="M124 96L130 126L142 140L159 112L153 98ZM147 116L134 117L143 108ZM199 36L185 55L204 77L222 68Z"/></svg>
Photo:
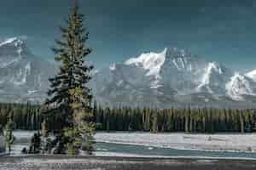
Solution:
<svg viewBox="0 0 256 170"><path fill-rule="evenodd" d="M0 42L0 101L42 101L54 72L55 66L34 56L22 38Z"/></svg>

